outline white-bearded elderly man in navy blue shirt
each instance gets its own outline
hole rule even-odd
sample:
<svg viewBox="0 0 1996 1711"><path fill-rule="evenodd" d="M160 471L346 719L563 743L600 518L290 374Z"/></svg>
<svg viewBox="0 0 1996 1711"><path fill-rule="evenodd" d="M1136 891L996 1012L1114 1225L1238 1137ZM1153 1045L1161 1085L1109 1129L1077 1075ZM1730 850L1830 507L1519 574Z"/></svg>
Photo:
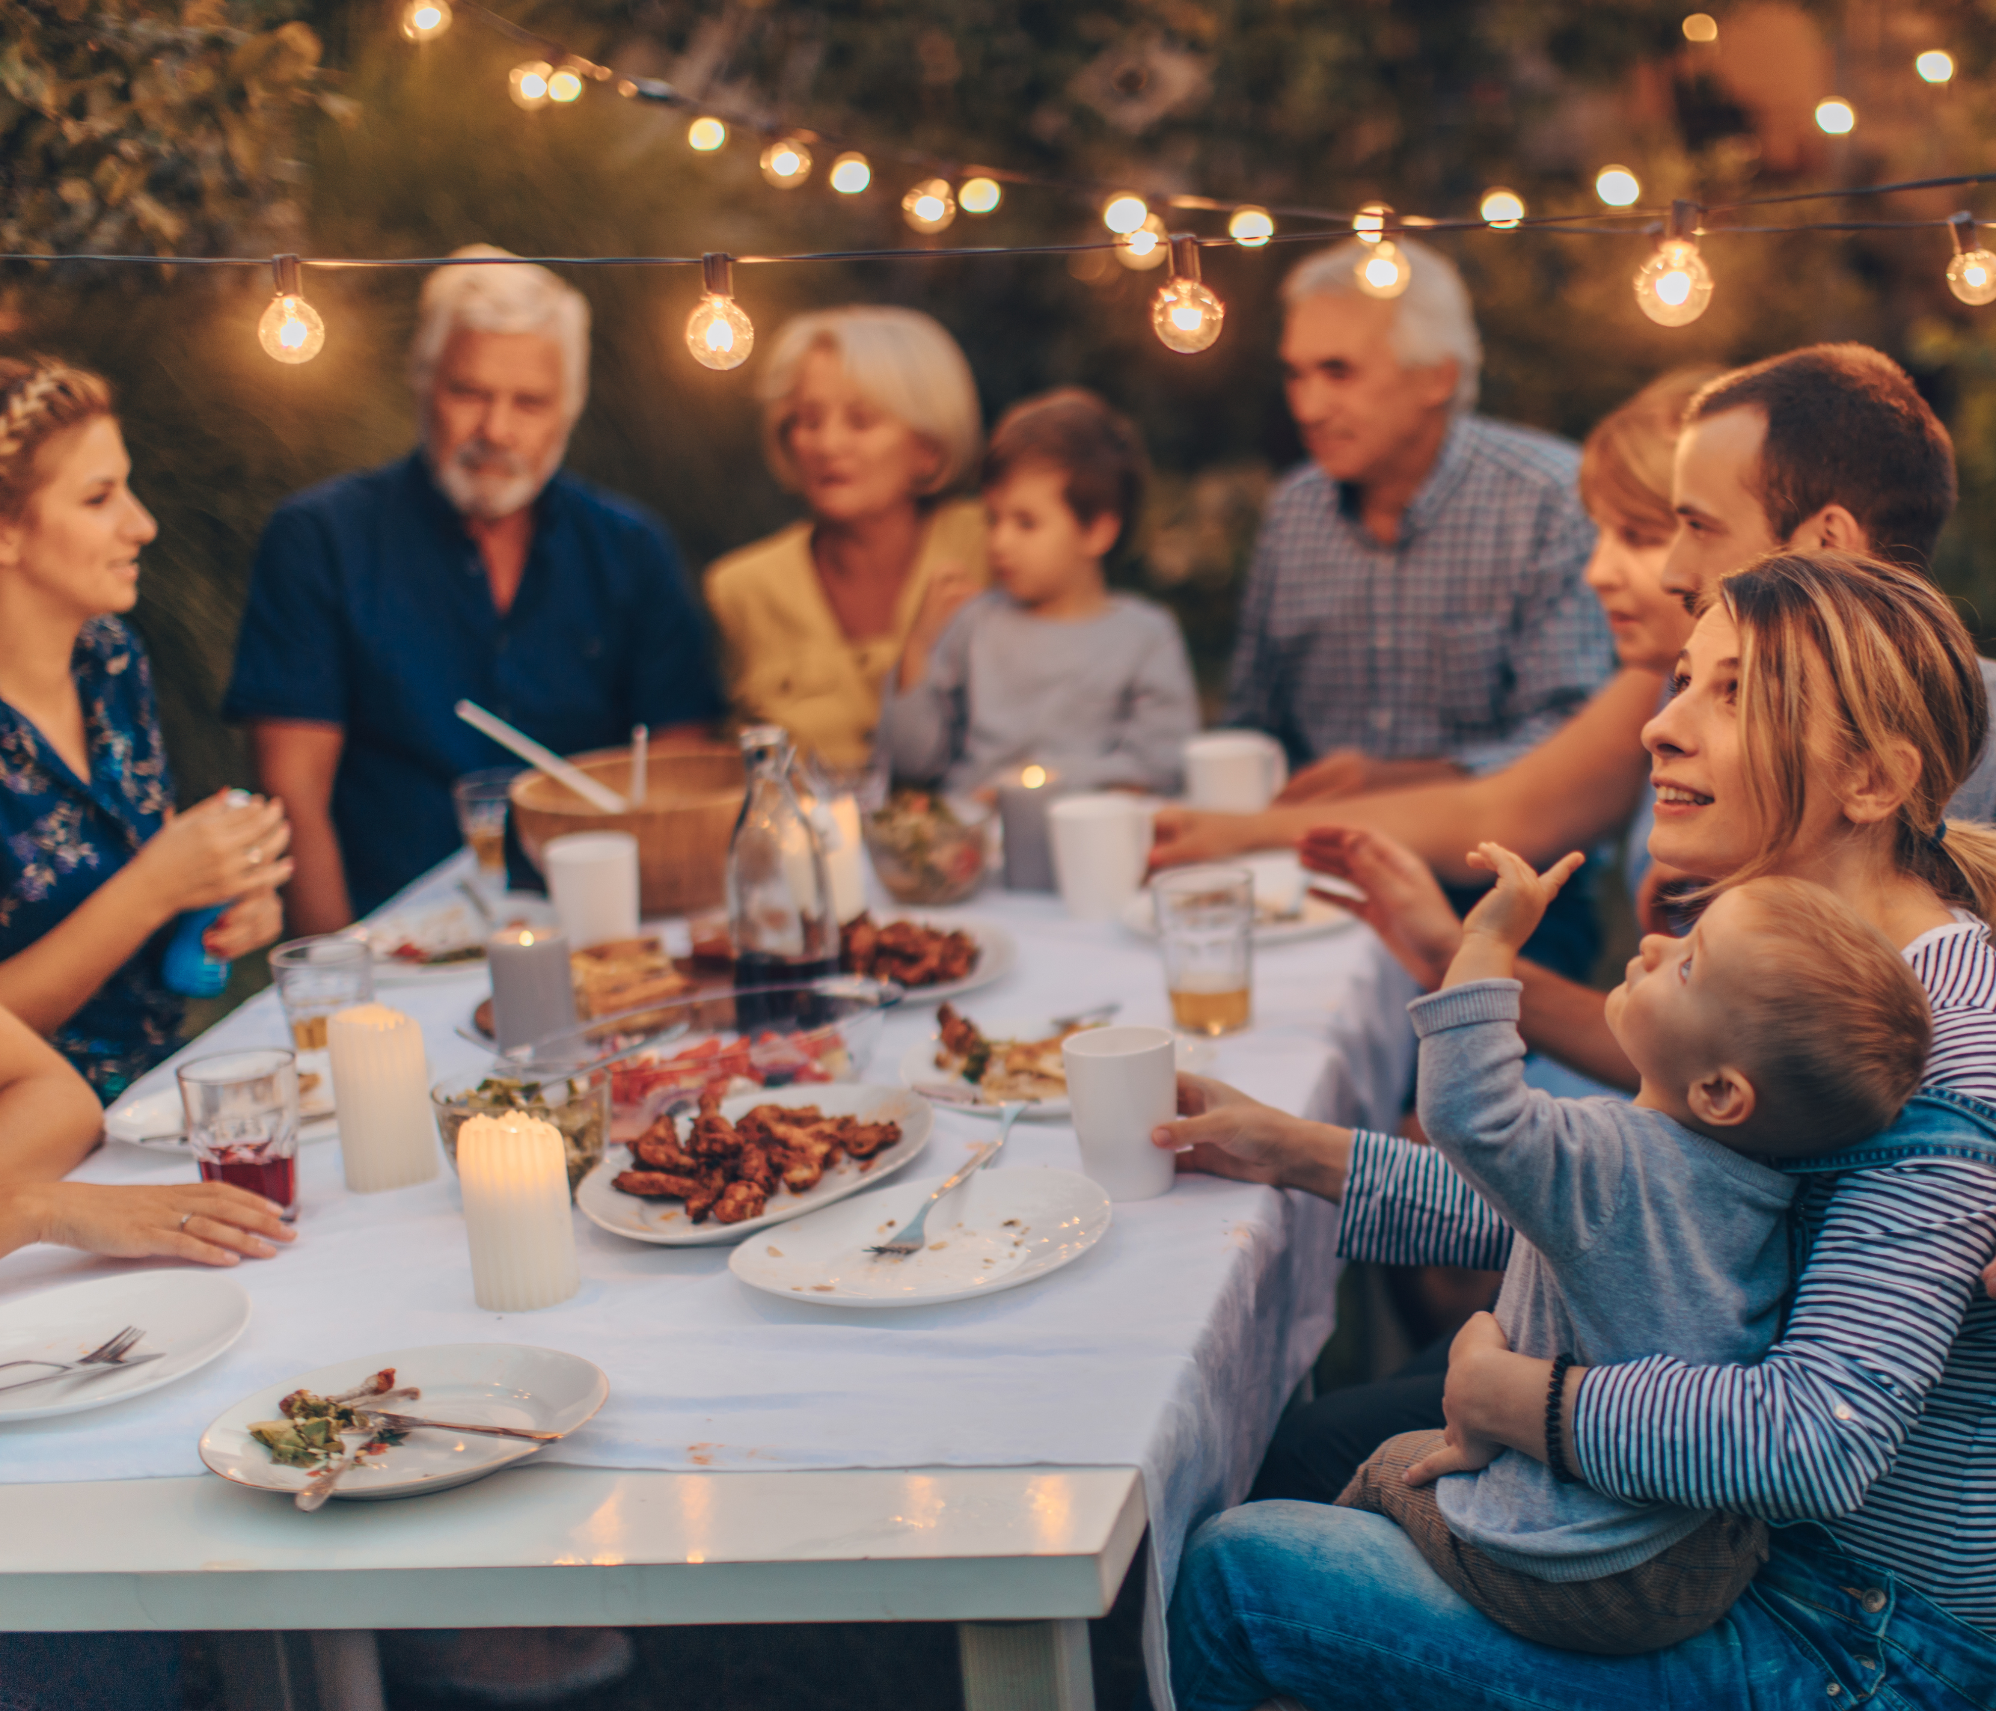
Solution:
<svg viewBox="0 0 1996 1711"><path fill-rule="evenodd" d="M561 471L589 303L497 258L423 284L421 447L293 495L257 549L226 717L250 727L297 862L293 932L329 932L459 845L451 781L511 757L477 701L561 755L721 713L707 627L659 519Z"/></svg>

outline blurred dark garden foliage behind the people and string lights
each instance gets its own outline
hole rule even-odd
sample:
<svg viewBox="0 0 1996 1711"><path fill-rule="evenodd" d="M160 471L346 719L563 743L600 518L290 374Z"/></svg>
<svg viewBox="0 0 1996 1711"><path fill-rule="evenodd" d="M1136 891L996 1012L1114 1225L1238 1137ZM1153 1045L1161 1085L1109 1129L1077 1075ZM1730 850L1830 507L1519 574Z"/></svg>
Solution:
<svg viewBox="0 0 1996 1711"><path fill-rule="evenodd" d="M1461 218L1485 188L1533 214L1599 208L1621 162L1645 206L1721 204L1834 184L1996 166L1996 8L1746 4L1687 20L1653 0L505 0L505 14L619 72L870 150L860 196L770 188L760 140L689 148L689 110L591 84L521 112L507 70L541 54L461 12L411 46L399 6L311 0L0 0L0 222L10 250L437 256L475 240L607 256L1100 240L1092 190L1010 188L986 220L912 234L922 176L886 150L1018 168L1150 198ZM1705 18L1705 14L1697 14ZM1928 84L1914 56L1946 50ZM1846 98L1856 126L1814 108ZM1802 204L1788 218L1944 218L1974 192ZM1218 234L1224 214L1176 214ZM1311 222L1277 216L1283 232ZM1629 276L1641 238L1473 232L1437 242L1477 297L1485 409L1579 435L1681 361L1741 361L1824 337L1912 367L1956 433L1964 501L1942 581L1996 627L1996 321L1942 285L1940 232L1713 236L1719 280L1691 327L1651 325ZM996 415L1080 381L1132 411L1160 479L1124 575L1186 621L1222 671L1267 481L1297 457L1273 347L1275 291L1303 254L1206 256L1228 303L1220 343L1166 351L1158 274L1106 254L741 268L766 337L806 305L870 299L938 315ZM122 389L136 483L160 513L138 621L154 649L182 795L244 775L216 717L255 535L285 493L405 449L401 351L415 270L309 270L323 355L279 367L255 345L269 278L253 270L12 266L0 341L56 349ZM756 365L697 367L681 327L697 270L579 268L595 307L591 407L571 465L669 519L699 567L792 515L756 451ZM1984 623L1978 613L1988 613Z"/></svg>

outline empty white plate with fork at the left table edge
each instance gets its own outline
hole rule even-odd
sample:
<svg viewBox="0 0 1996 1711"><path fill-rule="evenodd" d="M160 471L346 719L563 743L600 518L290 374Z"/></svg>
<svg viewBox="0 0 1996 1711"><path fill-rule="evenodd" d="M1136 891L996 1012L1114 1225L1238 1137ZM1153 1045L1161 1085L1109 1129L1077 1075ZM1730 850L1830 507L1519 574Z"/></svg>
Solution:
<svg viewBox="0 0 1996 1711"><path fill-rule="evenodd" d="M126 1326L146 1332L132 1354L160 1360L130 1372L74 1374L0 1392L0 1424L144 1396L208 1366L248 1324L250 1296L242 1284L206 1270L126 1272L8 1302L0 1306L0 1360L76 1360ZM0 1372L0 1384L32 1376L32 1368L10 1368Z"/></svg>

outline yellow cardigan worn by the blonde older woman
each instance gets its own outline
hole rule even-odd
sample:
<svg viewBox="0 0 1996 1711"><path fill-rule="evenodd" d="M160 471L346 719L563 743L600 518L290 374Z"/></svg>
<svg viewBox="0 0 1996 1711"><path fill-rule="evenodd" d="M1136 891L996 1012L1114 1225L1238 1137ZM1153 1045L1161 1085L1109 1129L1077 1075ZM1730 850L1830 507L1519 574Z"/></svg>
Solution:
<svg viewBox="0 0 1996 1711"><path fill-rule="evenodd" d="M810 561L810 523L792 523L715 559L707 605L721 629L729 697L747 719L782 725L834 767L862 767L880 723L880 685L900 659L938 567L958 563L982 583L984 505L950 499L928 517L894 629L854 641L832 615Z"/></svg>

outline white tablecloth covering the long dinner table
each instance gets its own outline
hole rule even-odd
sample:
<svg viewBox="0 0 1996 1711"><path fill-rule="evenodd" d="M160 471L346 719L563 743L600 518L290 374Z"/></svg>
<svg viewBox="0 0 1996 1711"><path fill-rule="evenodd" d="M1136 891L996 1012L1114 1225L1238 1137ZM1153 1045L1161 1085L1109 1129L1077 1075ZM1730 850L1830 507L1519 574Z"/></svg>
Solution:
<svg viewBox="0 0 1996 1711"><path fill-rule="evenodd" d="M421 890L447 890L459 864ZM1122 998L1120 1022L1168 1022L1158 950L1116 924L1080 924L1052 898L988 892L958 910L1002 922L1018 968L962 1000L972 1016L1032 1016ZM423 976L377 996L417 1016L431 1074L483 1068L457 1038L483 970ZM1411 986L1363 926L1263 950L1255 1022L1218 1042L1212 1074L1287 1110L1391 1124L1413 1040ZM870 1066L896 1078L932 1006L888 1018ZM275 994L212 1028L192 1052L285 1044ZM164 1066L150 1084L170 1084ZM992 1126L938 1110L910 1178L940 1174ZM0 1481L198 1473L202 1427L265 1384L371 1350L525 1342L585 1356L611 1400L549 1461L591 1467L1018 1467L1136 1465L1152 1521L1152 1621L1186 1533L1236 1503L1275 1418L1331 1330L1337 1210L1305 1194L1182 1178L1116 1208L1078 1264L948 1308L852 1312L741 1288L725 1248L625 1242L577 1214L583 1290L537 1314L471 1300L457 1182L347 1194L333 1142L299 1154L297 1246L232 1276L253 1300L242 1342L208 1370L92 1414L0 1427ZM1072 1128L1020 1124L994 1168L1080 1168ZM78 1172L172 1182L190 1166L118 1142ZM114 1270L52 1248L0 1260L0 1306ZM501 1475L503 1477L503 1475ZM1164 1703L1160 1699L1160 1703Z"/></svg>

